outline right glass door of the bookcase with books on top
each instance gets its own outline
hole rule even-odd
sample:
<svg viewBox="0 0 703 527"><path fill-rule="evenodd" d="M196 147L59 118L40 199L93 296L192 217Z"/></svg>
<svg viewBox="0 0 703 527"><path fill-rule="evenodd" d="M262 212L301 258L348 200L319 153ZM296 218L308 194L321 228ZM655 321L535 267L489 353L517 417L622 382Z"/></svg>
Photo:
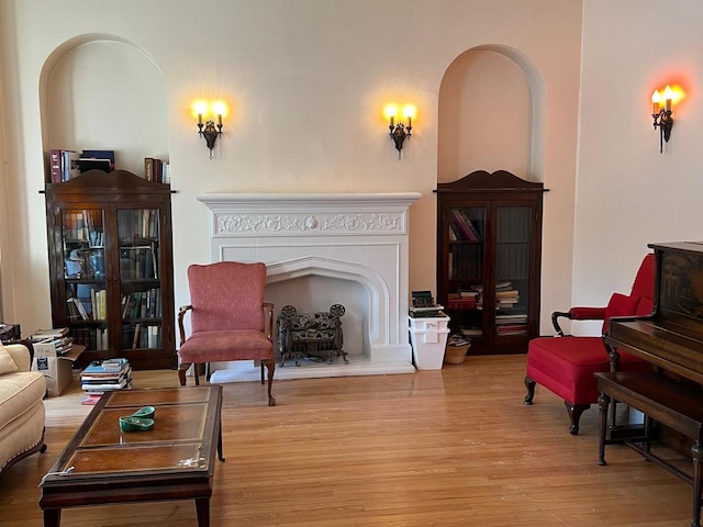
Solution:
<svg viewBox="0 0 703 527"><path fill-rule="evenodd" d="M118 210L122 348L161 346L159 211Z"/></svg>

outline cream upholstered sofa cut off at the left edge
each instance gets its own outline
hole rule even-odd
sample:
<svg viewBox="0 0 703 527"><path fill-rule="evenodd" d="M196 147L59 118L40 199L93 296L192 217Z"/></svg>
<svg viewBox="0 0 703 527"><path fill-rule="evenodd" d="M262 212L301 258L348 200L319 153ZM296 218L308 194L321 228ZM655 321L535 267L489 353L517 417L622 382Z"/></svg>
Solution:
<svg viewBox="0 0 703 527"><path fill-rule="evenodd" d="M31 366L25 346L0 344L0 475L15 461L46 450L46 380Z"/></svg>

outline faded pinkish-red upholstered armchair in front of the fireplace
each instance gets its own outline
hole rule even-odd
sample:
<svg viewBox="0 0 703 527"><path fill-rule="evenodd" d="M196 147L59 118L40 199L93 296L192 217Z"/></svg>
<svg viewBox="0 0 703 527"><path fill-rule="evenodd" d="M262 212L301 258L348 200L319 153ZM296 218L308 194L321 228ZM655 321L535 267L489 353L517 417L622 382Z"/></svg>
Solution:
<svg viewBox="0 0 703 527"><path fill-rule="evenodd" d="M264 366L268 370L268 405L274 382L274 304L264 302L266 266L221 261L191 265L188 268L190 305L178 312L180 349L178 378L186 385L186 371L191 365L230 360L260 360L261 384ZM191 335L186 338L183 316L190 312ZM266 327L265 327L266 326ZM199 384L198 368L193 368Z"/></svg>

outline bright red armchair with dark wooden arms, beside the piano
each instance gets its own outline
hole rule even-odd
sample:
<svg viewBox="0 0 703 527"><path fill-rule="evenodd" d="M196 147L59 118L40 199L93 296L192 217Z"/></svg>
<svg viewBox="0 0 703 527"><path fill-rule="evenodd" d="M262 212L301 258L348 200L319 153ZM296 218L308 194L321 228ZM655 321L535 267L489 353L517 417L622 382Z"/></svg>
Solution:
<svg viewBox="0 0 703 527"><path fill-rule="evenodd" d="M629 295L614 293L605 307L571 307L568 312L555 312L551 322L556 337L539 337L529 341L525 404L532 404L535 384L556 393L563 402L571 422L569 431L579 433L581 414L598 402L598 386L593 373L615 370L646 370L649 362L626 352L612 352L603 343L603 336L565 336L559 318L571 321L603 321L602 334L607 332L613 316L645 316L654 309L654 255L647 255L639 266Z"/></svg>

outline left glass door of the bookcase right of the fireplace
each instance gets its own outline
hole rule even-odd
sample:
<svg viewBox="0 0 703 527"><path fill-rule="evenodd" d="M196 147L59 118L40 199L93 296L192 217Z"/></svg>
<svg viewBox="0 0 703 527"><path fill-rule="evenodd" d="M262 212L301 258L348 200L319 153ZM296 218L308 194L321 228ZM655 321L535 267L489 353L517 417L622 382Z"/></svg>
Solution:
<svg viewBox="0 0 703 527"><path fill-rule="evenodd" d="M453 327L468 337L483 334L483 258L486 248L486 209L448 209L449 254L447 305Z"/></svg>

